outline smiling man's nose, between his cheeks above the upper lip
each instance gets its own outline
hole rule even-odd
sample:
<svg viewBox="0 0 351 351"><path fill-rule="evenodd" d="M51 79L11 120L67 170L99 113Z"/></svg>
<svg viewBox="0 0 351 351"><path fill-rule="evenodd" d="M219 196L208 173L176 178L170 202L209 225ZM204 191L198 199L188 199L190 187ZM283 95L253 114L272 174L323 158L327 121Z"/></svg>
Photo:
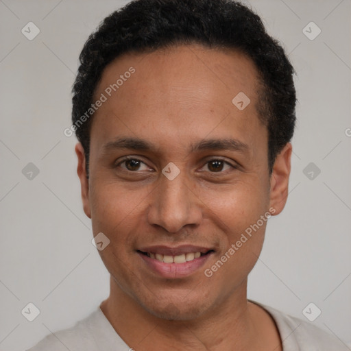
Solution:
<svg viewBox="0 0 351 351"><path fill-rule="evenodd" d="M185 172L181 171L173 180L162 175L159 182L150 194L149 223L169 233L179 232L187 225L199 225L202 202L195 194L195 187L186 180Z"/></svg>

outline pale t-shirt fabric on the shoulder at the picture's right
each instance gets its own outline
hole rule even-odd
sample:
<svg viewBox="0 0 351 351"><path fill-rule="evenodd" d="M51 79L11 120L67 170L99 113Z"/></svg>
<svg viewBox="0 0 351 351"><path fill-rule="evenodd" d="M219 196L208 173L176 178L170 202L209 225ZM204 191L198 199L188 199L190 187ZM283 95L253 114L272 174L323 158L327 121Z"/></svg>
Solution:
<svg viewBox="0 0 351 351"><path fill-rule="evenodd" d="M255 302L256 303L256 302ZM284 351L345 351L343 343L335 335L318 328L310 322L286 315L275 308L258 304L273 317L283 343Z"/></svg>

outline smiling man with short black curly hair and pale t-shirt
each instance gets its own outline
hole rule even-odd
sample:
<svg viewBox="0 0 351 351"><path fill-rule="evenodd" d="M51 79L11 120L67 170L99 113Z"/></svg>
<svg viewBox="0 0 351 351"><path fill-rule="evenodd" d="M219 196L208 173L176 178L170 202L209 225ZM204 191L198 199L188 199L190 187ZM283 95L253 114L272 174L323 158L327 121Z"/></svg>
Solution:
<svg viewBox="0 0 351 351"><path fill-rule="evenodd" d="M110 296L31 350L345 350L247 301L285 206L293 67L228 0L139 0L86 42L73 86L84 212Z"/></svg>

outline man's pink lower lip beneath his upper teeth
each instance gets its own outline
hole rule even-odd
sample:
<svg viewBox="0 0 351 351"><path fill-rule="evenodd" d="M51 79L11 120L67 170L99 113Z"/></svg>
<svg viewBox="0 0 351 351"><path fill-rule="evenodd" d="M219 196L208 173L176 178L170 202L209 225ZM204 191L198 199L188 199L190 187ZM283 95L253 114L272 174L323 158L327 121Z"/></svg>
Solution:
<svg viewBox="0 0 351 351"><path fill-rule="evenodd" d="M141 252L138 252L138 255L143 259L147 266L159 276L164 278L182 278L190 276L193 272L202 267L213 253L214 252L210 252L204 256L194 258L193 261L184 263L160 262L156 260L156 258L151 258L145 254L141 254Z"/></svg>

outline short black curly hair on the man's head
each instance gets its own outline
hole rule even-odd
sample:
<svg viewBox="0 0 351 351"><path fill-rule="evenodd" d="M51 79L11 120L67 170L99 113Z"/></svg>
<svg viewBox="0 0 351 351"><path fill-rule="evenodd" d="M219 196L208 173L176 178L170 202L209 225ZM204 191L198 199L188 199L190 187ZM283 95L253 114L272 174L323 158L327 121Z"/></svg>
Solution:
<svg viewBox="0 0 351 351"><path fill-rule="evenodd" d="M293 66L260 17L232 0L135 0L110 14L86 41L73 84L72 122L84 147L86 171L90 147L89 119L95 88L106 66L123 53L145 53L178 44L237 49L256 65L260 79L256 106L268 130L271 173L276 156L291 141L296 94Z"/></svg>

